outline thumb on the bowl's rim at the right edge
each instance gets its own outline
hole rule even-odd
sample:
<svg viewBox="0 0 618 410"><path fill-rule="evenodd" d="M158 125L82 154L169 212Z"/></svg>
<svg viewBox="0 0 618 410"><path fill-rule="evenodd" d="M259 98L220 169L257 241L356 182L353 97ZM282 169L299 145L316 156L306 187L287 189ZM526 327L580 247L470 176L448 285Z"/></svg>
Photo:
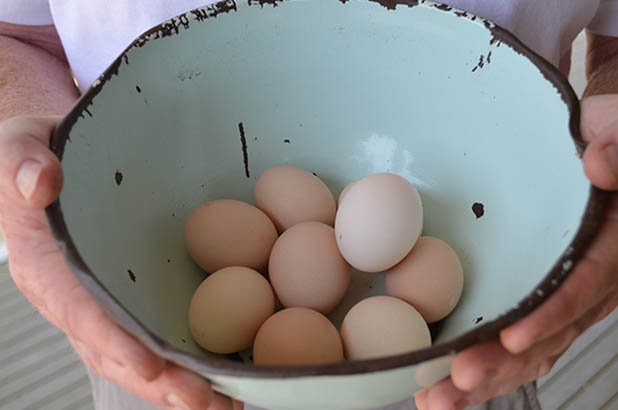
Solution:
<svg viewBox="0 0 618 410"><path fill-rule="evenodd" d="M618 120L586 147L584 170L593 185L608 191L618 190Z"/></svg>

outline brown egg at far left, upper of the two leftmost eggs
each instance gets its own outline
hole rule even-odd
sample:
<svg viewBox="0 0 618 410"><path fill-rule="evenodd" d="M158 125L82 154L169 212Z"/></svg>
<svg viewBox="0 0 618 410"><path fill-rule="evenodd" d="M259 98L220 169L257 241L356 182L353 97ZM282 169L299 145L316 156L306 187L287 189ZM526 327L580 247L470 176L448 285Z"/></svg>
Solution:
<svg viewBox="0 0 618 410"><path fill-rule="evenodd" d="M277 237L264 212L231 199L200 206L191 213L184 229L189 255L207 272L228 266L264 272Z"/></svg>

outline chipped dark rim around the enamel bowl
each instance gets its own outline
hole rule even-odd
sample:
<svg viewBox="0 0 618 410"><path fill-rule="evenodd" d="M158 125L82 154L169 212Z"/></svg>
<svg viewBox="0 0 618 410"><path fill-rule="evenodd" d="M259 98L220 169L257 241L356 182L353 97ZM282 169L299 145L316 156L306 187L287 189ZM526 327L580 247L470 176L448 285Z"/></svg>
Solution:
<svg viewBox="0 0 618 410"><path fill-rule="evenodd" d="M277 6L283 2L294 0L247 0L245 6L265 4ZM331 0L335 1L335 0ZM338 0L345 4L346 1ZM463 12L454 7L437 3L431 0L366 0L381 4L389 10L395 10L397 6L414 7L424 4L435 7L445 13L451 13L460 18L468 20L479 20L493 36L493 41L501 42L514 51L532 62L545 78L558 90L562 99L566 103L569 112L569 128L575 143L576 149L581 154L585 148L585 143L580 134L580 105L579 100L571 88L568 80L543 57L524 45L517 37L509 31L491 23L490 21L475 16L472 13ZM153 39L167 37L178 34L180 31L188 29L192 18L197 21L205 21L210 17L216 17L220 13L229 13L238 10L240 1L221 1L210 6L205 6L181 14L174 19L154 26L143 33L131 43L122 54L104 71L97 81L88 89L86 93L77 101L73 109L57 125L50 141L50 149L62 161L64 147L69 139L73 125L80 117L90 115L88 106L94 97L101 91L104 84L113 75L118 73L122 60L127 58L127 53L135 47L142 47ZM201 16L201 17L200 17ZM438 345L431 346L419 351L391 356L386 358L344 361L340 363L317 365L317 366L257 366L249 363L234 362L223 358L197 357L190 353L171 345L152 331L148 330L136 317L134 317L122 304L107 291L105 286L91 272L88 265L81 258L77 248L67 229L60 199L56 200L46 208L46 215L51 227L52 235L64 253L69 267L75 272L86 289L95 299L106 309L116 323L133 335L150 350L157 355L170 360L182 367L211 376L237 376L243 378L294 378L307 376L326 376L326 375L353 375L369 372L388 371L401 367L417 365L419 363L452 355L464 350L473 344L480 343L496 337L500 330L513 324L520 318L526 316L544 300L546 300L558 286L568 277L576 261L583 255L584 251L595 238L601 224L605 209L608 204L609 193L596 187L590 187L590 194L586 209L582 216L582 223L567 249L558 258L550 272L544 277L541 283L526 296L518 306L510 309L498 318L480 325L457 338Z"/></svg>

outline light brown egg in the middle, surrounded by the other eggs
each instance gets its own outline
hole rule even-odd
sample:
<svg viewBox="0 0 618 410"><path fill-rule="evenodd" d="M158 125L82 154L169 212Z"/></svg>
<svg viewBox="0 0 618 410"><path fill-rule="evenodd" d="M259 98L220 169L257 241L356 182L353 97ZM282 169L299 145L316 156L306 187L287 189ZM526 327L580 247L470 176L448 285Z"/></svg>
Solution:
<svg viewBox="0 0 618 410"><path fill-rule="evenodd" d="M273 246L270 282L285 307L329 313L343 298L352 267L337 248L335 230L321 222L303 222L285 231Z"/></svg>

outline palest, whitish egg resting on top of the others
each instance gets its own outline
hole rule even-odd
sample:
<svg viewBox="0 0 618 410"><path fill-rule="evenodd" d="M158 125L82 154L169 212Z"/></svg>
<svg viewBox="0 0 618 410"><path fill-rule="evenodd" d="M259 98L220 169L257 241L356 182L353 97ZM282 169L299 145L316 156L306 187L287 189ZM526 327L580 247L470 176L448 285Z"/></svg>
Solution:
<svg viewBox="0 0 618 410"><path fill-rule="evenodd" d="M423 206L414 186L389 173L349 186L335 221L337 244L356 269L380 272L400 262L421 234Z"/></svg>

